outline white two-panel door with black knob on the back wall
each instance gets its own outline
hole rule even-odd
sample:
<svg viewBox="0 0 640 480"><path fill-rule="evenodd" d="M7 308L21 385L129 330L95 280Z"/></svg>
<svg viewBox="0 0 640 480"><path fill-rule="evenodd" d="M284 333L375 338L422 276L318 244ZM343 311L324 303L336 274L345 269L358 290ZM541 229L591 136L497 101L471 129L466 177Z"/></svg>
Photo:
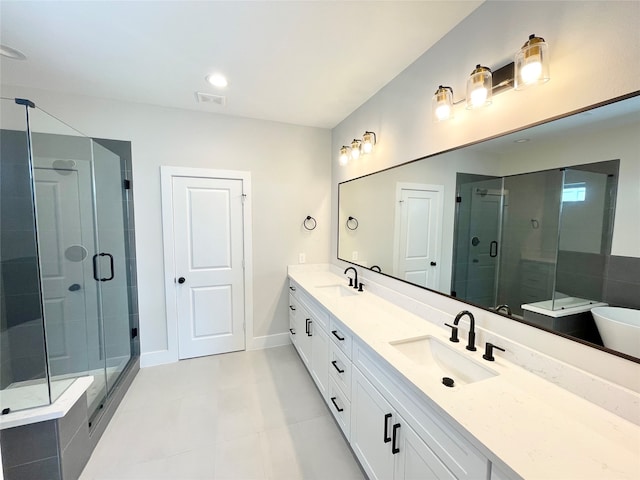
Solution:
<svg viewBox="0 0 640 480"><path fill-rule="evenodd" d="M240 179L172 177L178 357L243 350Z"/></svg>

